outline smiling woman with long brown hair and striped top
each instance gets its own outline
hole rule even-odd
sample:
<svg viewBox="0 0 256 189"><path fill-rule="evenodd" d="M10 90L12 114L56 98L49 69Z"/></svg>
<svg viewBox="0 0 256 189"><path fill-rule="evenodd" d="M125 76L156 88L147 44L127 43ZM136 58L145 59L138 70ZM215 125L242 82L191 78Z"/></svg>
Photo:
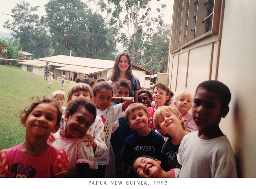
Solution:
<svg viewBox="0 0 256 189"><path fill-rule="evenodd" d="M118 82L120 79L131 81L129 96L134 98L134 102L139 102L138 93L141 91L141 87L138 78L132 74L132 61L127 52L122 52L117 55L112 74L106 81L112 80L113 82Z"/></svg>

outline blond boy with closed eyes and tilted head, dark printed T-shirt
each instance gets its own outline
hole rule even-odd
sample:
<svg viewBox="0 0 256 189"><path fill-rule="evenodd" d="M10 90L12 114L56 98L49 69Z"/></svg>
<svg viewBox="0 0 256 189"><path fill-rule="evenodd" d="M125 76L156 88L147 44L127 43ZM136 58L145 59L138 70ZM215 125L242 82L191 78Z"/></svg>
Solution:
<svg viewBox="0 0 256 189"><path fill-rule="evenodd" d="M185 131L185 123L181 114L173 107L160 106L155 111L153 122L157 131L169 138L161 151L162 169L169 171L180 168L177 160L179 146L183 137L189 133Z"/></svg>

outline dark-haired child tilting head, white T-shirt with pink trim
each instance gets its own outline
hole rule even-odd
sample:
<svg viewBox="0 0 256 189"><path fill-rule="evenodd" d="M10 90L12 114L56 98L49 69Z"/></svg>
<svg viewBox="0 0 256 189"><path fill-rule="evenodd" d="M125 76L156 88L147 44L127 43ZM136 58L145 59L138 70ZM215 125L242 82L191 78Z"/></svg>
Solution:
<svg viewBox="0 0 256 189"><path fill-rule="evenodd" d="M71 100L65 113L66 126L63 131L55 133L55 140L49 142L56 148L64 148L70 164L65 177L88 177L90 166L94 164L94 150L83 142L91 124L96 118L96 107L88 99L79 97Z"/></svg>

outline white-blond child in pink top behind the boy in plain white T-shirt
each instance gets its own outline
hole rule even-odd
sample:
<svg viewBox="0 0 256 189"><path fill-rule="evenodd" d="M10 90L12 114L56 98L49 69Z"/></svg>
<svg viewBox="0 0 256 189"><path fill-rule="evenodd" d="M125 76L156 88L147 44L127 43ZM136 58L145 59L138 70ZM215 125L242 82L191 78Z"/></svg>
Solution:
<svg viewBox="0 0 256 189"><path fill-rule="evenodd" d="M189 132L197 131L197 125L195 124L192 115L190 115L189 110L192 107L193 98L188 89L178 89L174 96L172 97L171 104L173 107L178 109L181 113L183 120L185 122L186 128Z"/></svg>

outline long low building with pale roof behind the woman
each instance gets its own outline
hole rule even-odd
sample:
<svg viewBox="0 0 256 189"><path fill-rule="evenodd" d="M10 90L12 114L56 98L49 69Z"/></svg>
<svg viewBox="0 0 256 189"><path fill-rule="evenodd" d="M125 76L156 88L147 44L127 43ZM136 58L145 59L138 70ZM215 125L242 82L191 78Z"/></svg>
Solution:
<svg viewBox="0 0 256 189"><path fill-rule="evenodd" d="M35 74L44 75L44 66L49 61L50 72L53 72L54 79L60 79L64 74L66 80L75 81L75 78L91 77L97 79L102 77L107 79L111 75L114 62L112 60L100 60L93 58L73 57L57 55L52 57L39 58L36 60L19 62L21 69ZM132 63L132 73L136 76L143 89L149 90L151 76L149 70Z"/></svg>

